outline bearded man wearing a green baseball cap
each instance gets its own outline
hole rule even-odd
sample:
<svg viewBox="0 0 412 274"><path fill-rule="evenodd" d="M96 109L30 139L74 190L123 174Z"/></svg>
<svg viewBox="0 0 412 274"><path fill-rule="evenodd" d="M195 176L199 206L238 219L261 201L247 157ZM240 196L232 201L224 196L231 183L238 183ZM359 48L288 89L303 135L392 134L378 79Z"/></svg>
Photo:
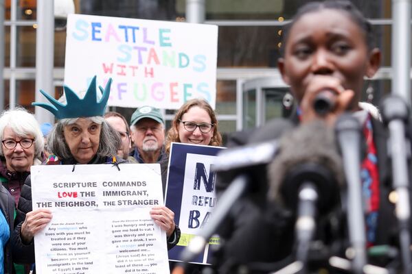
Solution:
<svg viewBox="0 0 412 274"><path fill-rule="evenodd" d="M152 164L166 157L163 147L165 122L158 108L144 105L130 119L135 150L130 153L137 162Z"/></svg>

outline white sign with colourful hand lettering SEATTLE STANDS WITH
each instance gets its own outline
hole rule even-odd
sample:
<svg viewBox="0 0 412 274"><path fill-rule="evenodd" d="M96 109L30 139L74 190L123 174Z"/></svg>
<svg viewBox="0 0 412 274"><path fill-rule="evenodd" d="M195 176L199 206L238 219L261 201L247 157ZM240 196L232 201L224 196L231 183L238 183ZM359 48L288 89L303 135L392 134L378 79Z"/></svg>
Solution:
<svg viewBox="0 0 412 274"><path fill-rule="evenodd" d="M70 14L65 84L111 77L108 105L179 109L202 97L215 108L217 41L216 25Z"/></svg>

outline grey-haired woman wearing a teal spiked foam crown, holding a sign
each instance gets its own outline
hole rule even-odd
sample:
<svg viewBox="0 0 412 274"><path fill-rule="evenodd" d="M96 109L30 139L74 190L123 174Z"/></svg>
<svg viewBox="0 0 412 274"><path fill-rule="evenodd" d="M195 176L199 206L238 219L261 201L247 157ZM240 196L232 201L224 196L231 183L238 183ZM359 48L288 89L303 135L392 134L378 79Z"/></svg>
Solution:
<svg viewBox="0 0 412 274"><path fill-rule="evenodd" d="M118 164L125 162L115 157L122 142L112 127L103 118L110 93L109 79L102 98L98 100L96 77L93 77L82 99L65 86L65 102L56 101L41 90L52 103L32 103L52 112L58 122L49 135L49 150L52 155L46 164ZM16 237L19 245L32 246L27 260L34 262L34 235L46 227L52 219L47 209L32 210L31 180L27 178L21 190L21 198L16 216ZM180 238L179 227L174 224L174 213L165 206L155 206L150 212L152 219L165 230L168 248L174 247ZM27 261L26 260L26 261Z"/></svg>

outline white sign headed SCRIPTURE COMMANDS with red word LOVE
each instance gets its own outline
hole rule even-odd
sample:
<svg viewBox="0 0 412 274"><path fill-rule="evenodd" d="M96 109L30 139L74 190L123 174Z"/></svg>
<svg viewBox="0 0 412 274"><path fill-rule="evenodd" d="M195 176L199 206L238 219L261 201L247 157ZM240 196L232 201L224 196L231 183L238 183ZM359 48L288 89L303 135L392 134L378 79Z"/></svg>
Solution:
<svg viewBox="0 0 412 274"><path fill-rule="evenodd" d="M34 237L37 273L169 273L159 164L32 166L33 209L52 211Z"/></svg>

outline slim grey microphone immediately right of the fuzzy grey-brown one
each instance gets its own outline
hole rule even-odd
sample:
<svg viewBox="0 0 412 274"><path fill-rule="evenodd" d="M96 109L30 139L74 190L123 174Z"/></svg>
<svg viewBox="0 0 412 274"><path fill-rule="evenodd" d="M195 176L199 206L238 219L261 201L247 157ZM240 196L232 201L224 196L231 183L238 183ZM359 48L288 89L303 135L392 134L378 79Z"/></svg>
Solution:
<svg viewBox="0 0 412 274"><path fill-rule="evenodd" d="M352 271L362 274L366 265L365 219L361 192L361 125L350 114L343 114L336 121L336 136L343 158L347 182L347 223L350 244L354 250Z"/></svg>

